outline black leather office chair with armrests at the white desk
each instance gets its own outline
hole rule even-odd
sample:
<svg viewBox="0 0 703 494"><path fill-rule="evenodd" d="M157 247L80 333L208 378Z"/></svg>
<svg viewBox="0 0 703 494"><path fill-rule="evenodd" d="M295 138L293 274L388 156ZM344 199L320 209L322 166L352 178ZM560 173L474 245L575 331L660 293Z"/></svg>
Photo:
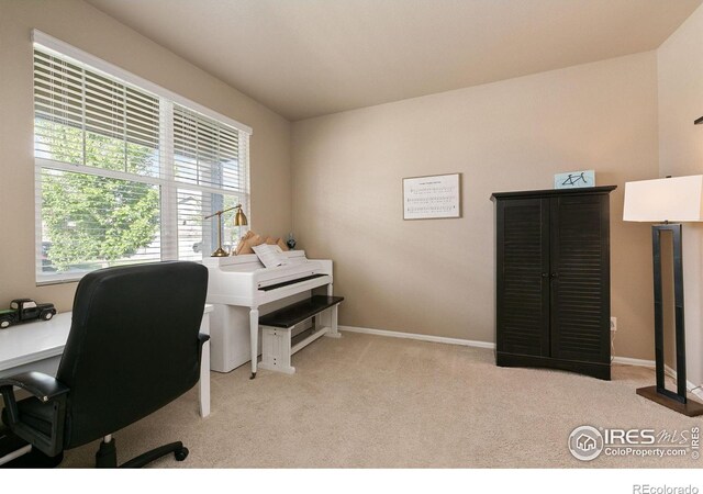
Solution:
<svg viewBox="0 0 703 494"><path fill-rule="evenodd" d="M196 262L107 268L82 278L56 378L26 372L0 379L2 420L44 454L103 438L96 465L118 465L112 433L152 414L200 378L199 334L208 269ZM12 386L33 396L16 402ZM174 452L172 442L127 461L143 467Z"/></svg>

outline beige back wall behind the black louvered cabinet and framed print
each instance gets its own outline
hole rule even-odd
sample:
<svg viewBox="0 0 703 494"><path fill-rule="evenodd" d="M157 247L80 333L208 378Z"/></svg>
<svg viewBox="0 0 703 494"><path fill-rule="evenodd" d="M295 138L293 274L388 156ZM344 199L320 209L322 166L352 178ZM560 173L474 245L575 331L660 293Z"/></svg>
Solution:
<svg viewBox="0 0 703 494"><path fill-rule="evenodd" d="M703 110L701 106L700 110ZM626 180L658 175L654 52L295 122L293 229L335 261L341 324L494 340L494 191L595 169L612 194L616 355L651 359L649 231ZM402 220L401 179L462 173L464 217Z"/></svg>

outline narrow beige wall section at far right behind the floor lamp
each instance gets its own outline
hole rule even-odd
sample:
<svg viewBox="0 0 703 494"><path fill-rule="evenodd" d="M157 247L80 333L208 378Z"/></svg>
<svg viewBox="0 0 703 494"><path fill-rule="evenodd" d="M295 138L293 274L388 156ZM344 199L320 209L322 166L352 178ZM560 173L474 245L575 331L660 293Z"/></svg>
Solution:
<svg viewBox="0 0 703 494"><path fill-rule="evenodd" d="M657 50L660 176L703 173L703 8ZM689 381L703 383L703 227L683 227L683 279Z"/></svg>

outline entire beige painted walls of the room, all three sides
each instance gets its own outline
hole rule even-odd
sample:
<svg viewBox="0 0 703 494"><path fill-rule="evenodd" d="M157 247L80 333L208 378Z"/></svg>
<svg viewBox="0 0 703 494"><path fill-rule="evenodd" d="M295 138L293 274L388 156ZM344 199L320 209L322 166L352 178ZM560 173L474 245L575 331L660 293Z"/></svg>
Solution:
<svg viewBox="0 0 703 494"><path fill-rule="evenodd" d="M92 7L2 1L0 306L32 296L65 311L75 284L34 283L33 27L250 125L252 226L284 235L292 205L300 246L335 260L342 324L492 341L491 192L550 188L555 172L594 168L599 184L620 186L611 201L616 355L654 357L649 229L620 220L622 186L701 172L703 127L691 122L703 114L702 9L656 54L297 122L291 149L284 119ZM402 221L403 177L457 171L464 217ZM702 355L703 233L684 235L689 353ZM689 361L701 377L700 359Z"/></svg>

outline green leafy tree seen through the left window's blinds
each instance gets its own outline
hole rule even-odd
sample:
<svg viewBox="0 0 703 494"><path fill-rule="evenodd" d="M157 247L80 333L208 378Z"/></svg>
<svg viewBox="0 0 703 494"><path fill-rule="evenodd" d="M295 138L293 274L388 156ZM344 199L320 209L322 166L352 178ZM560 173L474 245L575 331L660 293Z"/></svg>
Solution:
<svg viewBox="0 0 703 494"><path fill-rule="evenodd" d="M35 125L37 141L52 149L51 159L138 176L157 173L153 147L44 119ZM44 168L42 220L51 240L46 256L56 270L119 263L157 238L159 188Z"/></svg>

